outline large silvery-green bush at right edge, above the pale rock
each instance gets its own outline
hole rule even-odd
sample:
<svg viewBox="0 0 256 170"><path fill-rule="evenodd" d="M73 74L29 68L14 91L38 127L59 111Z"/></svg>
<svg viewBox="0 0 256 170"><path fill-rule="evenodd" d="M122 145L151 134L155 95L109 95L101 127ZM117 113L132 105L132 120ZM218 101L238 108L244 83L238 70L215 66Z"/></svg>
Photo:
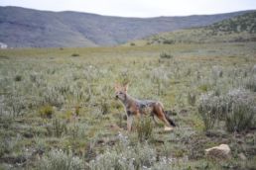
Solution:
<svg viewBox="0 0 256 170"><path fill-rule="evenodd" d="M222 96L203 94L197 109L205 130L213 128L217 121L224 121L227 131L240 132L253 126L256 115L254 98L245 89L233 89Z"/></svg>

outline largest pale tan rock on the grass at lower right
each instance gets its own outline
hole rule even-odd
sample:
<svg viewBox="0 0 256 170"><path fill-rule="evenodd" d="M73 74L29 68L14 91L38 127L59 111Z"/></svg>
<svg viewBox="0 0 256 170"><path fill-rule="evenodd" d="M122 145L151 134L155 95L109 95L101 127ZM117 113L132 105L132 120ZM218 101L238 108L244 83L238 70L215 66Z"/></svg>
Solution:
<svg viewBox="0 0 256 170"><path fill-rule="evenodd" d="M205 155L215 159L230 158L230 147L227 144L205 149Z"/></svg>

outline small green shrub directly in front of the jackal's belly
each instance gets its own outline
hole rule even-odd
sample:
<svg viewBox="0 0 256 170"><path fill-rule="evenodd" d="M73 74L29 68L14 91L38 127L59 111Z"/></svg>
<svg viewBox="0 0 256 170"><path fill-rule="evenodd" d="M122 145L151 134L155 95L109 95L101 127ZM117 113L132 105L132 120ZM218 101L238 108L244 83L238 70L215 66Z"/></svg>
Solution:
<svg viewBox="0 0 256 170"><path fill-rule="evenodd" d="M143 117L136 123L138 139L142 142L153 137L153 123L150 117Z"/></svg>

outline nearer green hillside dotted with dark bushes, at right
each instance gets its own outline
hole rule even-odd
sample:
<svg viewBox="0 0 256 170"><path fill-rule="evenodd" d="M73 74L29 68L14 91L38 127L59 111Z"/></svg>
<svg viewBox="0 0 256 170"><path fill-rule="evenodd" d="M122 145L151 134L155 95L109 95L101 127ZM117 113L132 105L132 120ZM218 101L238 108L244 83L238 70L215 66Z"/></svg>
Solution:
<svg viewBox="0 0 256 170"><path fill-rule="evenodd" d="M209 26L154 35L129 45L172 44L177 42L255 42L256 12L226 19Z"/></svg>

